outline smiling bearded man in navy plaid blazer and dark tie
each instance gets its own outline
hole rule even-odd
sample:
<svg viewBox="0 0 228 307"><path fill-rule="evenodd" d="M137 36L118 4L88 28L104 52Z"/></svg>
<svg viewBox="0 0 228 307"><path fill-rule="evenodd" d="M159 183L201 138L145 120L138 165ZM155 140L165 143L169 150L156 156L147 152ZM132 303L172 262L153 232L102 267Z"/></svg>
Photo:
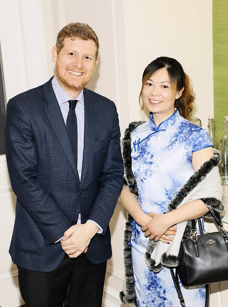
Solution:
<svg viewBox="0 0 228 307"><path fill-rule="evenodd" d="M65 296L65 307L102 304L123 164L114 103L84 88L98 49L88 25L65 26L52 48L55 76L7 104L10 255L26 307L62 307Z"/></svg>

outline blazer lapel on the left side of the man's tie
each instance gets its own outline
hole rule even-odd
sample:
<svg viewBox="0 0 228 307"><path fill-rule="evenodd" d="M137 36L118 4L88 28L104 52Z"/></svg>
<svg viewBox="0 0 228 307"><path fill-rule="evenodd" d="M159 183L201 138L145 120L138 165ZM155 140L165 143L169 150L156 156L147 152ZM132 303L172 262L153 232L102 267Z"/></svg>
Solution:
<svg viewBox="0 0 228 307"><path fill-rule="evenodd" d="M79 182L78 169L71 149L71 143L68 137L67 128L63 119L62 112L60 110L59 103L52 88L52 78L44 84L43 99L47 103L46 107L44 108L44 111Z"/></svg>

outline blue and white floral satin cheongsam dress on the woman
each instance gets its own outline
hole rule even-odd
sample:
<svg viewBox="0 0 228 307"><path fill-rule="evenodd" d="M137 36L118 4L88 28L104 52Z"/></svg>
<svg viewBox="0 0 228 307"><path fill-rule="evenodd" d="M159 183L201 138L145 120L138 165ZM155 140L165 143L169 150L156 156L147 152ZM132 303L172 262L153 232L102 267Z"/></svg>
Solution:
<svg viewBox="0 0 228 307"><path fill-rule="evenodd" d="M132 171L138 188L138 201L145 213L166 211L170 200L194 173L192 153L213 146L207 131L180 116L176 110L157 127L149 122L133 130ZM145 263L149 238L133 220L131 250L137 306L177 307L180 305L170 270L151 272ZM165 244L165 243L164 243ZM185 289L186 307L205 305L205 286Z"/></svg>

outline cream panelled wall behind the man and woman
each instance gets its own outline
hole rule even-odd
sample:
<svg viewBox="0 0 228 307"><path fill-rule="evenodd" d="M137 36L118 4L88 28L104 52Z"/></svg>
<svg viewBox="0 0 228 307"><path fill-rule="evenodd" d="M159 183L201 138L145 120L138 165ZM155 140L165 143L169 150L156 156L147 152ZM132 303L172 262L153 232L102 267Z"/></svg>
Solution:
<svg viewBox="0 0 228 307"><path fill-rule="evenodd" d="M130 121L146 119L146 113L138 106L141 76L145 66L161 55L179 60L193 80L196 115L206 127L207 117L213 115L212 0L0 0L0 43L7 100L44 83L54 74L51 48L57 33L64 25L77 21L88 23L100 42L99 64L87 87L116 103L122 136ZM0 157L0 187L0 230L4 236L0 305L18 307L22 300L17 269L8 254L15 196L4 155ZM124 276L125 221L126 212L118 202L110 222L113 257L107 266L104 307L124 306L118 293ZM227 297L223 293L213 294L213 307L225 306L219 303Z"/></svg>

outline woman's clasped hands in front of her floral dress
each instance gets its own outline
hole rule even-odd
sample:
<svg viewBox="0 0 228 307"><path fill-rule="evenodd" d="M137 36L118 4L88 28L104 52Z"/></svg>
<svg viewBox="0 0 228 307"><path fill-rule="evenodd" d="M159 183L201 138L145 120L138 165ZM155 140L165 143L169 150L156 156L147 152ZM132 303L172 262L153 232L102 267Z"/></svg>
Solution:
<svg viewBox="0 0 228 307"><path fill-rule="evenodd" d="M169 244L169 241L172 241L173 236L176 235L176 227L170 224L170 220L166 214L150 212L149 216L152 219L141 228L145 232L145 237L149 237L150 240Z"/></svg>

